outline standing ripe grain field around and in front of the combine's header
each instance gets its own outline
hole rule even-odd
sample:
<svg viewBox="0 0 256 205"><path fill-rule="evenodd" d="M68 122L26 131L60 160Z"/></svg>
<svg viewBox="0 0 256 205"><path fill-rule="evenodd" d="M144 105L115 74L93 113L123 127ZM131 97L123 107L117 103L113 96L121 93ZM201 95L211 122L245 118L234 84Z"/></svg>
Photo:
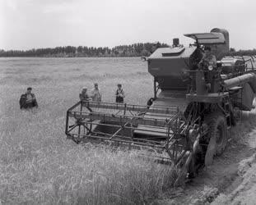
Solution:
<svg viewBox="0 0 256 205"><path fill-rule="evenodd" d="M2 58L0 76L2 204L149 204L173 184L170 166L138 151L77 145L64 134L67 108L94 82L106 102L122 83L127 103L146 104L152 78L139 58ZM18 105L28 86L39 103L30 112Z"/></svg>

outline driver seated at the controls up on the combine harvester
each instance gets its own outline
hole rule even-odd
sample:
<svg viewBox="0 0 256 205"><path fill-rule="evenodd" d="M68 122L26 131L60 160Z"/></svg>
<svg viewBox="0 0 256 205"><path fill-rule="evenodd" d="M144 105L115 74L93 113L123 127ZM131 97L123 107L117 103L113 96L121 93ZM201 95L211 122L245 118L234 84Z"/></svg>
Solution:
<svg viewBox="0 0 256 205"><path fill-rule="evenodd" d="M202 60L198 63L198 66L199 68L210 71L216 69L216 57L212 54L212 49L210 47L204 48Z"/></svg>

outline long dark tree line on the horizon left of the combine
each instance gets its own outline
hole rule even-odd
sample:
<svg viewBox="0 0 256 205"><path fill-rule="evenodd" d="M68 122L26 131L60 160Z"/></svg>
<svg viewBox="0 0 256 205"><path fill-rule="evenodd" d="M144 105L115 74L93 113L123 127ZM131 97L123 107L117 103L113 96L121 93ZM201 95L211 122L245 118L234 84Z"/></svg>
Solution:
<svg viewBox="0 0 256 205"><path fill-rule="evenodd" d="M114 48L63 46L56 48L33 48L30 50L2 50L0 57L141 57L149 56L156 48L169 47L166 43L133 43Z"/></svg>

